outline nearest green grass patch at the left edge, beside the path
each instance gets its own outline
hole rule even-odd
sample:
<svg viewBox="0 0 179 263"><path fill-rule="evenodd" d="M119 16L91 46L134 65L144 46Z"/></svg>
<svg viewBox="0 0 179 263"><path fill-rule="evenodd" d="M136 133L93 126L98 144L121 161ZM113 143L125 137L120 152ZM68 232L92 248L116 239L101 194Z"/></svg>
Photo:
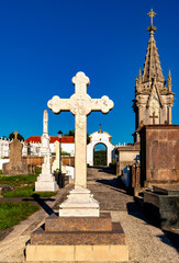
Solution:
<svg viewBox="0 0 179 263"><path fill-rule="evenodd" d="M40 208L29 202L13 203L5 202L0 203L0 229L11 228L24 220L31 214L35 213Z"/></svg>

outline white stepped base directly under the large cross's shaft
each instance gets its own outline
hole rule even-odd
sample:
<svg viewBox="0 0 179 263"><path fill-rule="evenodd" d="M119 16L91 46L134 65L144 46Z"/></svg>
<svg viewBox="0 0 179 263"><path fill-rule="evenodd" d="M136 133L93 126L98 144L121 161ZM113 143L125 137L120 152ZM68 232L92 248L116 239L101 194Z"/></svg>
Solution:
<svg viewBox="0 0 179 263"><path fill-rule="evenodd" d="M99 217L100 206L88 188L76 186L59 205L59 217Z"/></svg>

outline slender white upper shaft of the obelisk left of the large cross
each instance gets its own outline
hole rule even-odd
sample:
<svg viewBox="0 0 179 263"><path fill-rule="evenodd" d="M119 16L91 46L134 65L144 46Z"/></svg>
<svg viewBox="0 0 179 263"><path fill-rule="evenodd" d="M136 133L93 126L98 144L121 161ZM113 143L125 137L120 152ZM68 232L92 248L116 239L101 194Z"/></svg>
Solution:
<svg viewBox="0 0 179 263"><path fill-rule="evenodd" d="M49 148L49 136L48 136L48 113L44 111L43 118L43 135L41 137L41 155L46 156Z"/></svg>

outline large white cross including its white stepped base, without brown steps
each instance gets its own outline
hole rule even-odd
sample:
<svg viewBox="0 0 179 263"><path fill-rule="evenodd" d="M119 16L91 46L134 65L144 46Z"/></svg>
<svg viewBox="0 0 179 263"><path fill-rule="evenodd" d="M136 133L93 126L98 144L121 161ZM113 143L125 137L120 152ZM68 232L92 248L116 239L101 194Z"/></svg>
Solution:
<svg viewBox="0 0 179 263"><path fill-rule="evenodd" d="M89 78L78 72L72 78L75 93L70 99L55 95L48 101L48 107L56 114L70 111L75 115L75 190L59 206L59 216L99 216L99 203L87 188L87 116L93 112L107 114L113 102L108 96L91 99L87 94Z"/></svg>

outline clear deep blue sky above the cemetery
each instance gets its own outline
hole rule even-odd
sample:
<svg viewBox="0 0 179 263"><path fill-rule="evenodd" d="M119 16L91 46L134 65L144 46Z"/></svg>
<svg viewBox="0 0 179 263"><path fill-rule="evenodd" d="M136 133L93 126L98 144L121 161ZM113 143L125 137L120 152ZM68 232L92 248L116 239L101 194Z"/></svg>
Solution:
<svg viewBox="0 0 179 263"><path fill-rule="evenodd" d="M25 138L42 135L43 111L53 95L69 98L71 78L83 71L92 98L108 95L114 108L92 113L88 132L102 124L112 142L132 142L135 77L143 69L150 8L157 13L157 42L164 76L171 68L179 124L178 0L0 0L0 136L15 129ZM49 135L74 129L70 113L48 110Z"/></svg>

